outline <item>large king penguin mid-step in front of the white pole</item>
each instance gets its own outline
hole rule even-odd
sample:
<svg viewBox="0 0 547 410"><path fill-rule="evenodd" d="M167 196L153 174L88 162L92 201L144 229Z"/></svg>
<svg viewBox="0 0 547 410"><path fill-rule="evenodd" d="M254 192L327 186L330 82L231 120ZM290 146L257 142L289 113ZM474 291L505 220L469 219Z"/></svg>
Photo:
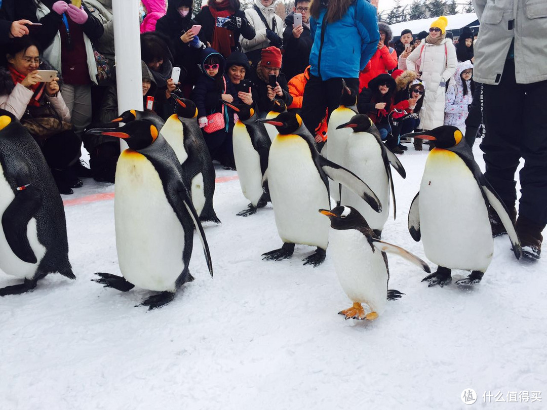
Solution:
<svg viewBox="0 0 547 410"><path fill-rule="evenodd" d="M88 131L123 138L129 149L118 159L114 184L116 248L123 277L97 273L95 282L121 291L134 286L159 291L142 304L154 309L173 300L194 278L188 263L194 226L207 266L211 257L199 216L183 183L182 167L171 145L148 120L136 120L115 131Z"/></svg>

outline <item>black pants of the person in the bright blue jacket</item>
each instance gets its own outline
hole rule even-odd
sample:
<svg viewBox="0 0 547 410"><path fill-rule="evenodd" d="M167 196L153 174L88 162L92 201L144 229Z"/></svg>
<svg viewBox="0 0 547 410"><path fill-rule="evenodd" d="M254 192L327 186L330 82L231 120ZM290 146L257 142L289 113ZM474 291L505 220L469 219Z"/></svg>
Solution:
<svg viewBox="0 0 547 410"><path fill-rule="evenodd" d="M358 78L345 78L344 80L348 87L357 92L359 89ZM330 114L340 106L341 95L341 78L331 78L323 81L321 78L310 74L302 99L302 120L312 136L315 136L315 130L325 117L327 108L329 109L328 121Z"/></svg>

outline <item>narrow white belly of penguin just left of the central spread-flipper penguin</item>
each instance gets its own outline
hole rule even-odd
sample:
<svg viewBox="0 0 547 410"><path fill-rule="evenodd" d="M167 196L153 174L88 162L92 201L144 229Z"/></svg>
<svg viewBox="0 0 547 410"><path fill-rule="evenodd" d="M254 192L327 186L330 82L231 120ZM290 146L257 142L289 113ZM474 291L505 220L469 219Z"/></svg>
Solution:
<svg viewBox="0 0 547 410"><path fill-rule="evenodd" d="M253 206L257 206L262 190L262 169L260 168L260 155L253 147L251 136L241 121L234 125L233 133L234 159L236 162L237 176L240 180L241 191Z"/></svg>

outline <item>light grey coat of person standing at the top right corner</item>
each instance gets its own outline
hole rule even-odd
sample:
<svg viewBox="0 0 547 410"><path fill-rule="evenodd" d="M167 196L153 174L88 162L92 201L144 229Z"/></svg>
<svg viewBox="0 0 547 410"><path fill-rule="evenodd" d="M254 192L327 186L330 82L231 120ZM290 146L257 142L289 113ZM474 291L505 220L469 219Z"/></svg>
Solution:
<svg viewBox="0 0 547 410"><path fill-rule="evenodd" d="M480 20L473 79L497 85L513 38L518 84L547 80L547 2L474 0Z"/></svg>

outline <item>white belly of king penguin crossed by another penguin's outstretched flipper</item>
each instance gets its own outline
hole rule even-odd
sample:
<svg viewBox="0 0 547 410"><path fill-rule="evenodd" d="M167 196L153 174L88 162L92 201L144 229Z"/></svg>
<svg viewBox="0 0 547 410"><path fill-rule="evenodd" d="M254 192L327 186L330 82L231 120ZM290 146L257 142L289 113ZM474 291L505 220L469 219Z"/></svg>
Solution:
<svg viewBox="0 0 547 410"><path fill-rule="evenodd" d="M345 186L342 186L342 205L357 209L371 229L383 230L383 225L389 216L389 179L380 145L368 132L353 133L348 139L345 156L347 169L373 190L382 204L382 212L376 212Z"/></svg>

